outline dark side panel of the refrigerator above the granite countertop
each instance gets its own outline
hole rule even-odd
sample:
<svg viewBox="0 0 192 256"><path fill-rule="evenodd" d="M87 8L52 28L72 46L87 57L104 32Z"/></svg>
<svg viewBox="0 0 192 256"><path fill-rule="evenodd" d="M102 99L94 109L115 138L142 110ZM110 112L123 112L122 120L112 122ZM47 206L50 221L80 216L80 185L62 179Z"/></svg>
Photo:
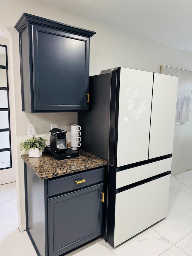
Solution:
<svg viewBox="0 0 192 256"><path fill-rule="evenodd" d="M108 161L111 73L89 79L89 111L78 113L81 149Z"/></svg>

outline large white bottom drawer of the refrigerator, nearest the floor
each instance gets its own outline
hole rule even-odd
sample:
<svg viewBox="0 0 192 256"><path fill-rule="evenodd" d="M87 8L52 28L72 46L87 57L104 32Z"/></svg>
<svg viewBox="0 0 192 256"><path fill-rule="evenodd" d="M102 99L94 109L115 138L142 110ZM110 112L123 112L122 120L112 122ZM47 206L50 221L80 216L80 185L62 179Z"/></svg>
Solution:
<svg viewBox="0 0 192 256"><path fill-rule="evenodd" d="M109 189L113 217L107 241L116 247L167 216L170 174L116 194ZM110 210L110 209L109 209Z"/></svg>

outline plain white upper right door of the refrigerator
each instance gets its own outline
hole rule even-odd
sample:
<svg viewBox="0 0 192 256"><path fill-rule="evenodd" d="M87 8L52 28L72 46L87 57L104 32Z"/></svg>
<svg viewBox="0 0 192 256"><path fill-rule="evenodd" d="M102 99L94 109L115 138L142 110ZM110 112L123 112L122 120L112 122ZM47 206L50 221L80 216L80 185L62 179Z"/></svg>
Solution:
<svg viewBox="0 0 192 256"><path fill-rule="evenodd" d="M172 154L178 77L154 74L149 159Z"/></svg>

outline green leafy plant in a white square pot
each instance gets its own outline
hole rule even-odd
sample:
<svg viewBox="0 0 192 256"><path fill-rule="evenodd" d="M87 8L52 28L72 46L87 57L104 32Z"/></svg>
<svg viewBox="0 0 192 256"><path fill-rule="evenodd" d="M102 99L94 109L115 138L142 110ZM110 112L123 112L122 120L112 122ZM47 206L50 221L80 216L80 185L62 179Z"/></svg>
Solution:
<svg viewBox="0 0 192 256"><path fill-rule="evenodd" d="M21 150L29 150L29 157L40 157L42 155L42 149L46 147L46 140L43 137L35 137L23 141L20 143Z"/></svg>

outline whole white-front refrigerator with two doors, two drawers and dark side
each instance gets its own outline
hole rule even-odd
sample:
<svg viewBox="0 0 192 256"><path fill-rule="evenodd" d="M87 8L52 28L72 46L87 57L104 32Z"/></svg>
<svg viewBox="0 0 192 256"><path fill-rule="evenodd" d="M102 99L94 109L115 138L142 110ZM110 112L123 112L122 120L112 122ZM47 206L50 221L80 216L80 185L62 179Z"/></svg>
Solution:
<svg viewBox="0 0 192 256"><path fill-rule="evenodd" d="M101 73L78 123L82 149L109 161L104 239L116 247L167 215L178 77Z"/></svg>

